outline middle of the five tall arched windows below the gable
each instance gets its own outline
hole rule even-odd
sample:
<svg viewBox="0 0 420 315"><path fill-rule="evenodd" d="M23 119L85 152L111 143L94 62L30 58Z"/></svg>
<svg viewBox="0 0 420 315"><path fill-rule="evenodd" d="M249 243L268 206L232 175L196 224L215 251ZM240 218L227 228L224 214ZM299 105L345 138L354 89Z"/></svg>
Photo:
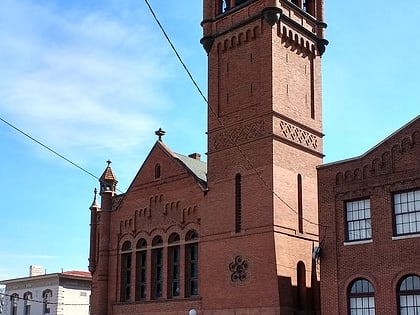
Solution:
<svg viewBox="0 0 420 315"><path fill-rule="evenodd" d="M163 294L163 241L155 236L152 241L152 299L160 299Z"/></svg>

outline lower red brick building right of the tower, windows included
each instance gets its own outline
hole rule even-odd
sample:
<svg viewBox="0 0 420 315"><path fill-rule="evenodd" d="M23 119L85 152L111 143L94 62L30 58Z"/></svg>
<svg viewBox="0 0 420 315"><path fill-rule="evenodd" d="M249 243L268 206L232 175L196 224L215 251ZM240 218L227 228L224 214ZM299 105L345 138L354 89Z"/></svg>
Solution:
<svg viewBox="0 0 420 315"><path fill-rule="evenodd" d="M318 183L322 314L420 314L420 116Z"/></svg>

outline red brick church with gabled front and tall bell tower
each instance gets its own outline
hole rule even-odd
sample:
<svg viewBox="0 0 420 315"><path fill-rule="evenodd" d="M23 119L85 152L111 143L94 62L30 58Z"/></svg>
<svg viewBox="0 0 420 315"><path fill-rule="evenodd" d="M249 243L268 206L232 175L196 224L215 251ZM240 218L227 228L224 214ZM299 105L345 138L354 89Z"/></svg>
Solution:
<svg viewBox="0 0 420 315"><path fill-rule="evenodd" d="M91 313L316 314L323 0L203 5L207 164L158 131L125 194L108 165Z"/></svg>

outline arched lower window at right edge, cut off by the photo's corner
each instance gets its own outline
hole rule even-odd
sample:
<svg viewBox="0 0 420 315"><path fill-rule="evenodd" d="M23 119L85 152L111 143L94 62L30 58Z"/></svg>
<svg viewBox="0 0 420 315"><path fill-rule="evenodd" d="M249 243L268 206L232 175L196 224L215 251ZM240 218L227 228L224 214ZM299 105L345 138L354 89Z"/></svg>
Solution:
<svg viewBox="0 0 420 315"><path fill-rule="evenodd" d="M399 287L400 315L420 314L420 277L411 275Z"/></svg>

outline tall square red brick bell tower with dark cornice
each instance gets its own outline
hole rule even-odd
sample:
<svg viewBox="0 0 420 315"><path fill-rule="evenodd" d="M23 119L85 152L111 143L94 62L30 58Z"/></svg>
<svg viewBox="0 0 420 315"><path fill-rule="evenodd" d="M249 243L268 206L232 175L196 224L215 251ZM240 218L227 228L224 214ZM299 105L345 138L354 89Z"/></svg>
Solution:
<svg viewBox="0 0 420 315"><path fill-rule="evenodd" d="M203 3L209 190L200 277L210 282L200 291L203 308L315 314L324 1Z"/></svg>

